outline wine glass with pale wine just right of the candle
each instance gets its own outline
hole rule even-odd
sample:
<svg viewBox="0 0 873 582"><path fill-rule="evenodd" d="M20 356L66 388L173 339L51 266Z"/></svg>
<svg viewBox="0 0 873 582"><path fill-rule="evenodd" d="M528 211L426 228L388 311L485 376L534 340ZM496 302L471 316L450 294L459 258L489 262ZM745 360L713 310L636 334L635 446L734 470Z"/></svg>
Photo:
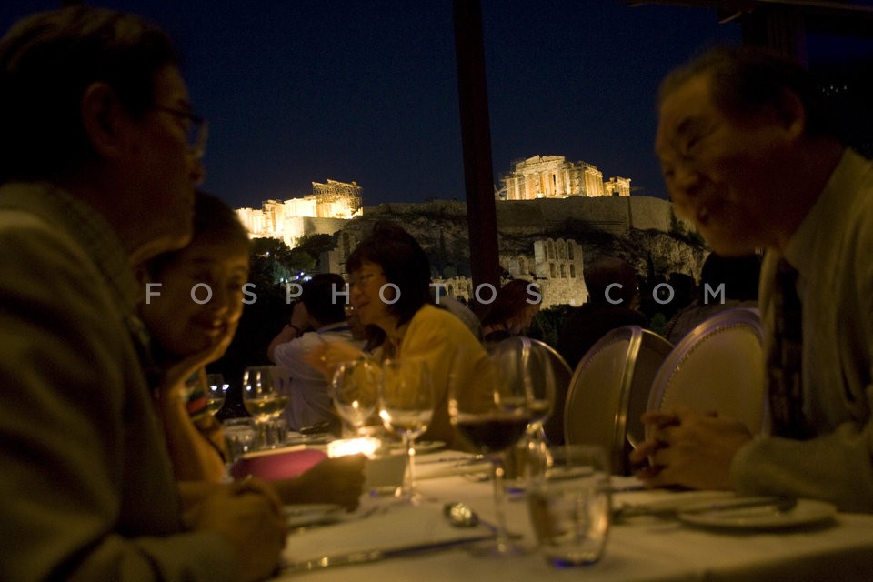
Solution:
<svg viewBox="0 0 873 582"><path fill-rule="evenodd" d="M415 490L415 442L427 430L434 406L434 384L426 360L405 357L388 359L382 364L379 417L386 429L403 441L409 462L401 496L413 503L418 500Z"/></svg>

